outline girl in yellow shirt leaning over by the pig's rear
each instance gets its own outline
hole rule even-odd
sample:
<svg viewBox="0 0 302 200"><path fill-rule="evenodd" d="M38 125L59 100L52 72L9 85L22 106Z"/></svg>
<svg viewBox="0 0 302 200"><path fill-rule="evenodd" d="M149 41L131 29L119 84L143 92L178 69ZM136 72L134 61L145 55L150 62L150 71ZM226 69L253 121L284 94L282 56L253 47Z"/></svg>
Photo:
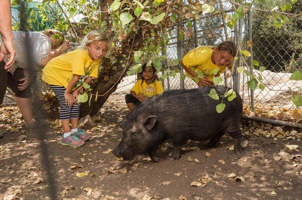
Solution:
<svg viewBox="0 0 302 200"><path fill-rule="evenodd" d="M229 66L234 60L236 54L237 47L235 43L225 41L214 48L199 46L190 50L180 61L180 64L189 78L198 78L198 87L210 86L213 85L213 70L218 68L218 73L215 76L220 76L226 66ZM203 74L202 78L198 77L197 71Z"/></svg>

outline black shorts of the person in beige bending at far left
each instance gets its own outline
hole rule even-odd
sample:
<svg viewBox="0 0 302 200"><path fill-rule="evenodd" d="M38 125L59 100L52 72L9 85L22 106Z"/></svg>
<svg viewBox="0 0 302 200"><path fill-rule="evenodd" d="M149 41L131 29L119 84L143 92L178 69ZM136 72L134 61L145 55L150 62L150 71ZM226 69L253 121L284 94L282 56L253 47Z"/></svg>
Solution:
<svg viewBox="0 0 302 200"><path fill-rule="evenodd" d="M7 72L4 69L5 63L0 63L0 77L3 81L0 83L0 102L3 102L3 98L6 92L7 87L9 87L16 95L16 97L29 99L32 97L31 94L31 84L25 89L20 91L18 86L21 81L20 79L24 78L23 69L17 68L12 75L10 72Z"/></svg>

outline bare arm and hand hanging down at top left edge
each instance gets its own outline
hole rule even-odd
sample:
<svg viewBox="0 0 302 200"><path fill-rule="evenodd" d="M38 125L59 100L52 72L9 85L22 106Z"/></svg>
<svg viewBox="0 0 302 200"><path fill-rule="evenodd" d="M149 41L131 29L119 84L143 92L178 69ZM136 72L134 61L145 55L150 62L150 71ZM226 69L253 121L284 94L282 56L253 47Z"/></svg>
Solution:
<svg viewBox="0 0 302 200"><path fill-rule="evenodd" d="M4 56L7 55L8 60L4 68L9 70L13 66L15 59L11 3L9 0L0 1L0 34L2 37L0 61L3 61Z"/></svg>

